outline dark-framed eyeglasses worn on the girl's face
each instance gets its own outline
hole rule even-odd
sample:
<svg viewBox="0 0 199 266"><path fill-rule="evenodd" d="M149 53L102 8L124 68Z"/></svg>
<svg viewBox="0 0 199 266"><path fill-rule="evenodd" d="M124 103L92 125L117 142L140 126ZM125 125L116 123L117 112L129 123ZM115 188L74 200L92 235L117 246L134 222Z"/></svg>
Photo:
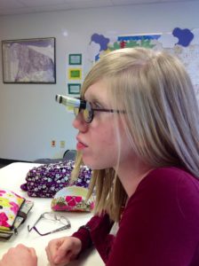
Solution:
<svg viewBox="0 0 199 266"><path fill-rule="evenodd" d="M102 109L92 108L92 103L84 101L84 107L74 107L74 113L77 116L79 113L83 114L84 121L91 123L94 117L94 112L106 112L106 113L125 113L125 111L113 110L113 109Z"/></svg>

